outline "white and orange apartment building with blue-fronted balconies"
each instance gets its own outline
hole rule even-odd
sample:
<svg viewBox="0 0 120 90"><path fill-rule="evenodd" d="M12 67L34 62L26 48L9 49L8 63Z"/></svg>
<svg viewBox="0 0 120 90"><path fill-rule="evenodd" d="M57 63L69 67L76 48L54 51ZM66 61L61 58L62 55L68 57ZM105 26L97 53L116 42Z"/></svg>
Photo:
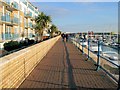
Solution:
<svg viewBox="0 0 120 90"><path fill-rule="evenodd" d="M0 0L0 43L33 38L37 7L28 0Z"/></svg>

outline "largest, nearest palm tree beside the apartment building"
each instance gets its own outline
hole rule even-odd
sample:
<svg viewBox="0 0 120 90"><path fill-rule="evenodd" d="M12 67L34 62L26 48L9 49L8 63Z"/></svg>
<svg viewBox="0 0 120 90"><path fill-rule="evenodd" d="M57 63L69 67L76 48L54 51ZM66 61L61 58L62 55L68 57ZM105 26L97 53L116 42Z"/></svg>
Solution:
<svg viewBox="0 0 120 90"><path fill-rule="evenodd" d="M38 17L35 19L36 22L36 32L40 36L41 40L43 40L43 31L45 28L48 28L48 23L52 22L51 17L45 15L43 12L41 12Z"/></svg>

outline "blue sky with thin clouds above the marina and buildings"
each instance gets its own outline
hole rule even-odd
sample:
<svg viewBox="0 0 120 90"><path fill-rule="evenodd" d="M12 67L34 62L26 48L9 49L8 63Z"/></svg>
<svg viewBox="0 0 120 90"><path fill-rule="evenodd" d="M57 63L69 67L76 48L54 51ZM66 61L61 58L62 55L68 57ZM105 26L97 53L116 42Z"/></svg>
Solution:
<svg viewBox="0 0 120 90"><path fill-rule="evenodd" d="M62 32L118 31L118 2L112 0L111 2L107 0L106 2L39 2L36 0L31 3L41 12L50 15L52 23Z"/></svg>

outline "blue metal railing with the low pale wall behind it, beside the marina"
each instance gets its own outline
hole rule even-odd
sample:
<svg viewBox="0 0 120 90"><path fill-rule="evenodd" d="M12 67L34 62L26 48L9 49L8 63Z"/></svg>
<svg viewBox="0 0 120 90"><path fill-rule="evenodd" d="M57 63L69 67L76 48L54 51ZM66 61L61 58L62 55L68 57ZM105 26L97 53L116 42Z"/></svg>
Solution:
<svg viewBox="0 0 120 90"><path fill-rule="evenodd" d="M94 52L91 47L91 40L88 39L87 45L84 45L84 39L82 39L82 42L78 39L75 38L70 38L71 42L79 48L83 54L86 54L88 59L87 60L92 60L95 63L96 66L96 71L102 69L103 71L108 74L110 78L112 78L116 83L118 83L118 88L120 88L120 65L119 65L119 58L118 61L112 61L108 57L105 57L102 55L100 51L100 47L104 46L101 41L97 41L97 53ZM119 55L119 54L118 54ZM116 63L117 62L117 63Z"/></svg>

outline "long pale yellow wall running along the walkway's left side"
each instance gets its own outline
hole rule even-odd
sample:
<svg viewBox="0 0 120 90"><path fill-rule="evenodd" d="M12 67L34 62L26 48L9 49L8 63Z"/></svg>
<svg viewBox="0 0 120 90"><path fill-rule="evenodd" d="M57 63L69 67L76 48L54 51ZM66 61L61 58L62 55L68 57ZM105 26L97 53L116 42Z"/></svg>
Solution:
<svg viewBox="0 0 120 90"><path fill-rule="evenodd" d="M19 87L59 38L57 36L1 57L0 88Z"/></svg>

